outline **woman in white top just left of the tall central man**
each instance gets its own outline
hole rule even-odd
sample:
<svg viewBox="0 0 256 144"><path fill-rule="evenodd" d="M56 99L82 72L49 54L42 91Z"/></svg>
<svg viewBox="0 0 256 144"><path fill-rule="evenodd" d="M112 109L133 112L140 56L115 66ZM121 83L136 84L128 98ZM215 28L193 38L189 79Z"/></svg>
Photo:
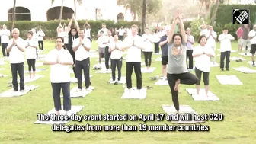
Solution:
<svg viewBox="0 0 256 144"><path fill-rule="evenodd" d="M112 69L112 80L115 81L115 85L118 84L117 81L121 80L121 71L122 71L122 61L123 61L123 50L120 47L122 42L118 40L118 35L114 35L114 42L110 43L110 49L108 50L111 53L111 69ZM118 78L116 80L116 66L118 71Z"/></svg>

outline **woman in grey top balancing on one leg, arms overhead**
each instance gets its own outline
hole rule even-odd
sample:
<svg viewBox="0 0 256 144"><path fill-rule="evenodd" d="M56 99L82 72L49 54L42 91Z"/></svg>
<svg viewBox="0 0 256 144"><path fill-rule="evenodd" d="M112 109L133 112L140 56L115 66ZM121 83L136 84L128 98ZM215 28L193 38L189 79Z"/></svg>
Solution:
<svg viewBox="0 0 256 144"><path fill-rule="evenodd" d="M174 34L174 29L177 23L180 23L180 34ZM178 101L178 88L180 83L185 85L194 85L198 82L197 76L187 71L186 62L186 33L184 24L180 16L180 12L177 11L177 15L174 19L174 23L171 24L170 34L168 35L168 70L167 79L171 88L171 97L174 103L174 107L179 113L180 106Z"/></svg>

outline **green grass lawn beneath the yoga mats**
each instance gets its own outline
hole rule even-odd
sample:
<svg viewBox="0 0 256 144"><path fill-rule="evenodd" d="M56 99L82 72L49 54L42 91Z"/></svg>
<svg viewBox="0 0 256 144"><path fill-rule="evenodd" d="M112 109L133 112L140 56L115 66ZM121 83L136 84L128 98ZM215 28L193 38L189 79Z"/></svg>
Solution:
<svg viewBox="0 0 256 144"><path fill-rule="evenodd" d="M53 41L45 43L44 54L54 48ZM237 42L232 43L233 50L237 49ZM94 43L93 49L97 46ZM219 49L219 43L217 43ZM216 54L219 51L216 50ZM231 56L239 56L232 53ZM159 55L153 55L157 58ZM251 57L244 56L251 60ZM95 87L91 94L85 98L72 98L72 105L83 105L85 108L78 114L149 114L163 113L161 104L172 104L170 88L168 86L155 86L150 76L161 75L161 62L153 60L152 67L157 67L155 72L142 74L142 85L152 86L153 89L147 91L144 100L121 99L123 85L108 85L110 74L96 74L92 66L97 63L97 58L91 58L91 78L92 86ZM6 61L8 62L8 61ZM219 62L219 56L217 56ZM238 66L251 67L248 61L237 63L231 61L231 68ZM27 64L26 64L27 65ZM253 144L256 142L256 88L255 74L244 74L230 69L229 72L221 72L219 67L211 68L210 91L216 94L220 101L194 101L187 94L185 88L194 88L194 85L181 85L179 94L180 104L190 105L199 114L222 113L225 116L223 121L207 121L203 125L210 126L209 132L53 132L51 125L34 124L37 120L37 113L46 113L53 109L52 89L50 85L50 67L45 71L38 72L45 77L27 85L39 85L34 91L18 98L0 98L0 143L131 143L131 144L151 144L151 143L181 143L181 144ZM125 61L123 62L123 76L125 76ZM4 92L8 87L7 82L11 80L11 70L9 63L0 68L1 74L8 77L0 78L0 92ZM27 70L27 67L25 67ZM256 68L252 68L256 69ZM236 75L243 85L220 85L216 75ZM73 75L72 75L73 76ZM84 85L84 84L83 84ZM133 86L136 85L136 77L133 72ZM203 88L203 81L201 83ZM72 84L71 87L75 87ZM82 121L69 122L68 124L85 125L139 125L142 121ZM148 125L164 125L168 121L151 121Z"/></svg>

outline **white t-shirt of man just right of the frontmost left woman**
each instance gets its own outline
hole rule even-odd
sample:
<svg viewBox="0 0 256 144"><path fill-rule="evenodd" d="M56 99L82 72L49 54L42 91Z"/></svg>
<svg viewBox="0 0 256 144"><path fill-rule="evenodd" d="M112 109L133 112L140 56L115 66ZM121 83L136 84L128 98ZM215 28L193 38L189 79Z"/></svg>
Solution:
<svg viewBox="0 0 256 144"><path fill-rule="evenodd" d="M78 46L80 41L80 38L76 38L73 42L73 47ZM91 41L88 38L84 38L84 40L82 40L82 43L84 43L84 45L88 48L91 49ZM77 61L82 61L87 59L90 56L90 53L85 50L84 46L79 46L78 50L75 51L75 60Z"/></svg>

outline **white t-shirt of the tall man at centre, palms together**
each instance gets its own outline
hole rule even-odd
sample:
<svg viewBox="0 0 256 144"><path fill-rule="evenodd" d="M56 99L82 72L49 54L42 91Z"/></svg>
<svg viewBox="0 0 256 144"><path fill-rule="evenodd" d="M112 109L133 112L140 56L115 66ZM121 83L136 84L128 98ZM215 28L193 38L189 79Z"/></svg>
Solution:
<svg viewBox="0 0 256 144"><path fill-rule="evenodd" d="M142 37L140 37L139 35L136 35L136 37L133 37L131 35L127 36L124 39L123 44L125 46L130 46L131 44L133 44L133 40L136 46L143 46ZM136 46L131 46L127 49L126 62L141 62L141 49Z"/></svg>

